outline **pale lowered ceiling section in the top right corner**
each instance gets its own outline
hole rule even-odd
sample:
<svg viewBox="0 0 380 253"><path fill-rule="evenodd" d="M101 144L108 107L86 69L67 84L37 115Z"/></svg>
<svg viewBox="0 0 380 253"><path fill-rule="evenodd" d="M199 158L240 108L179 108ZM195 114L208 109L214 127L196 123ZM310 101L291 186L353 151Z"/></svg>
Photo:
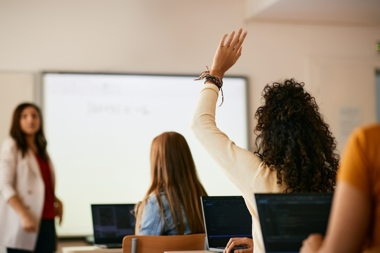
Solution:
<svg viewBox="0 0 380 253"><path fill-rule="evenodd" d="M247 0L250 21L380 26L380 0Z"/></svg>

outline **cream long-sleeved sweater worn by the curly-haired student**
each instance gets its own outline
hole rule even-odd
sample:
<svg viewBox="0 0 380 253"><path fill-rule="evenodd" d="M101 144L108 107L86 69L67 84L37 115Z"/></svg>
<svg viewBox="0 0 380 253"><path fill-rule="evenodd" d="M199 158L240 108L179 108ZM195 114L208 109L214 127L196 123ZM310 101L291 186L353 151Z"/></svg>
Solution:
<svg viewBox="0 0 380 253"><path fill-rule="evenodd" d="M192 119L191 128L199 143L218 167L242 192L252 215L253 252L265 253L254 193L282 193L285 184L277 184L277 171L269 170L256 156L240 148L220 131L215 123L219 90L212 83L203 86Z"/></svg>

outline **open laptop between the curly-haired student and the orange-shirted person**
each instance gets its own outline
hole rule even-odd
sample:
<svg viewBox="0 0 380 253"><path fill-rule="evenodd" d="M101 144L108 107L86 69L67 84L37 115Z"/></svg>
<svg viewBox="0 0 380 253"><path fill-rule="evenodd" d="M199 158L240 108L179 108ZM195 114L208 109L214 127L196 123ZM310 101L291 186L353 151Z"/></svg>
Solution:
<svg viewBox="0 0 380 253"><path fill-rule="evenodd" d="M332 193L255 194L266 253L298 253L311 233L325 234Z"/></svg>

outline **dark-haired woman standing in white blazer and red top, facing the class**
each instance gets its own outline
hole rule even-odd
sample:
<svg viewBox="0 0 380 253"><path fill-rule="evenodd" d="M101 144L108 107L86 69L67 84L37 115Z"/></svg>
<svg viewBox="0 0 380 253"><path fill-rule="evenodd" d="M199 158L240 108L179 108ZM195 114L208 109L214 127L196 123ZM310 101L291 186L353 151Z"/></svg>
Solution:
<svg viewBox="0 0 380 253"><path fill-rule="evenodd" d="M55 251L54 218L62 221L41 110L20 104L0 151L0 245L8 253Z"/></svg>

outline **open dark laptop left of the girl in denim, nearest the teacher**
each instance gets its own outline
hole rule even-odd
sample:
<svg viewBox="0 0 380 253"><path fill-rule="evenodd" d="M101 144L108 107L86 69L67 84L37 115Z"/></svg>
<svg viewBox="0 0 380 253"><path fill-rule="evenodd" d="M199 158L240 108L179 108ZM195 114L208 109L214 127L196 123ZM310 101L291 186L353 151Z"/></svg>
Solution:
<svg viewBox="0 0 380 253"><path fill-rule="evenodd" d="M94 245L122 248L123 237L135 234L135 204L92 204Z"/></svg>

